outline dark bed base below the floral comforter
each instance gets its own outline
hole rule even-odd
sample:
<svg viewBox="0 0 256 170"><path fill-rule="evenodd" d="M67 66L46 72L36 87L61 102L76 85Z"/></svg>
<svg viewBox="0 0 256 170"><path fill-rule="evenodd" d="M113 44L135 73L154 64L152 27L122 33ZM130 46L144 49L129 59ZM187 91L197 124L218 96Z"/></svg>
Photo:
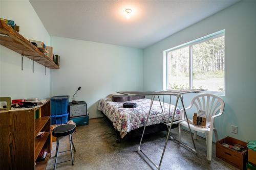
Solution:
<svg viewBox="0 0 256 170"><path fill-rule="evenodd" d="M103 118L106 120L106 122L108 122L108 124L116 132L116 135L117 135L116 142L117 143L121 143L123 140L128 140L130 138L141 137L144 126L138 128L138 129L131 130L123 138L121 138L120 132L114 128L114 125L111 122L111 120L102 111L101 111L101 114L103 115ZM172 129L177 128L177 127L178 127L178 125L174 124L172 126ZM150 125L150 126L146 127L144 135L149 135L149 134L153 134L156 132L162 132L162 131L168 131L167 126L165 124L160 123L160 124L156 124L156 125Z"/></svg>

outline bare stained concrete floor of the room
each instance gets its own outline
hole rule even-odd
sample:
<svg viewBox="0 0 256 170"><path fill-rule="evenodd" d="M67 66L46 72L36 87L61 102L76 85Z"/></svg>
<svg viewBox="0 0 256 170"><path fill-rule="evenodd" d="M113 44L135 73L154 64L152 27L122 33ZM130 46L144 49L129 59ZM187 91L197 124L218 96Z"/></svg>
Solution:
<svg viewBox="0 0 256 170"><path fill-rule="evenodd" d="M116 143L116 134L103 118L90 119L87 126L77 128L73 135L76 152L74 165L71 161L57 165L57 169L153 169L136 152L140 138ZM178 128L172 130L177 137ZM147 136L141 149L158 164L162 153L165 132ZM190 144L191 138L187 131L182 131L182 141ZM173 141L167 144L161 169L237 169L215 156L215 144L212 144L212 161L206 158L205 139L198 137L195 155L180 147ZM53 169L56 142L53 143L52 157L47 169ZM59 151L69 149L69 138L60 139ZM71 159L70 152L60 153L58 162ZM155 168L154 168L155 169Z"/></svg>

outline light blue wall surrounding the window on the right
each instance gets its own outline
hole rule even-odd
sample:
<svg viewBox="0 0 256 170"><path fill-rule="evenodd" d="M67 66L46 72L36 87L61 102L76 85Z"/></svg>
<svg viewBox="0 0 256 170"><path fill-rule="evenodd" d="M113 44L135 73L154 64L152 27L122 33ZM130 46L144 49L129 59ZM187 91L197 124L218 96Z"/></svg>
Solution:
<svg viewBox="0 0 256 170"><path fill-rule="evenodd" d="M216 119L221 138L256 139L256 2L242 1L144 49L144 90L163 88L163 51L226 29L224 114ZM187 94L185 106L194 95ZM191 117L191 112L189 113ZM230 126L238 126L238 135Z"/></svg>

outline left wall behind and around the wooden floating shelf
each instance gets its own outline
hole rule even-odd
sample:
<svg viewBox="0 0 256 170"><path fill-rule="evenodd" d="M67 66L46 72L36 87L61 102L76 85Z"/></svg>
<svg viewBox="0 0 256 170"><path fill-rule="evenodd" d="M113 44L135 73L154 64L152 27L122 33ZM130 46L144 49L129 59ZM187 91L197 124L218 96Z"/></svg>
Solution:
<svg viewBox="0 0 256 170"><path fill-rule="evenodd" d="M50 36L28 0L0 1L0 17L14 20L20 34L27 39L50 43ZM21 70L20 54L0 45L0 96L12 99L49 98L50 69L24 57L24 70Z"/></svg>

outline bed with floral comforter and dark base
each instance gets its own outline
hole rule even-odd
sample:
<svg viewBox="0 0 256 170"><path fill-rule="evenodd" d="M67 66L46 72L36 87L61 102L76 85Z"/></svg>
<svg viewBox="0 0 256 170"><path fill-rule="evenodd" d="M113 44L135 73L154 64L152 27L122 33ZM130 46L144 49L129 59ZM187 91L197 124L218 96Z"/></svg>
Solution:
<svg viewBox="0 0 256 170"><path fill-rule="evenodd" d="M106 120L111 124L117 133L117 142L120 142L124 137L128 135L137 136L141 135L145 120L150 110L150 99L133 100L137 104L137 108L123 108L123 103L113 102L110 97L103 98L99 101L98 110L101 111ZM163 103L161 102L162 106ZM165 103L165 113L168 112L169 104ZM173 113L174 105L171 105L170 112ZM153 103L151 114L162 114L162 109L158 101ZM179 117L180 109L176 110L176 117ZM148 119L145 134L155 133L157 131L167 130L167 126L160 123L159 119L153 117ZM173 126L175 128L176 126Z"/></svg>

